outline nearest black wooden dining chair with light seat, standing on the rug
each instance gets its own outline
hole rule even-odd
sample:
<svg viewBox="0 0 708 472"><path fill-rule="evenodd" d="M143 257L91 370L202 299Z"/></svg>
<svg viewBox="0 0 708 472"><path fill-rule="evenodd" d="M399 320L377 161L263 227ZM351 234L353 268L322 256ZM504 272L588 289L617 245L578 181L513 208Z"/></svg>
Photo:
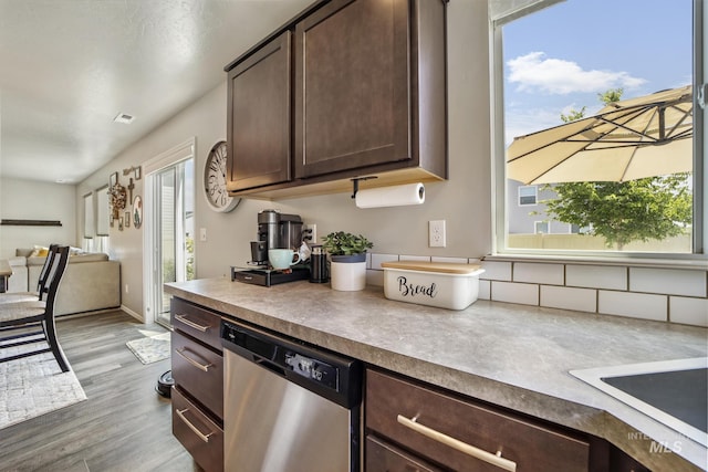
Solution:
<svg viewBox="0 0 708 472"><path fill-rule="evenodd" d="M42 342L46 342L49 347L38 346L33 350L2 357L0 363L52 353L62 371L69 371L69 361L59 345L54 326L54 302L69 262L69 247L58 248L52 259L48 269L46 300L0 305L0 353L6 348Z"/></svg>

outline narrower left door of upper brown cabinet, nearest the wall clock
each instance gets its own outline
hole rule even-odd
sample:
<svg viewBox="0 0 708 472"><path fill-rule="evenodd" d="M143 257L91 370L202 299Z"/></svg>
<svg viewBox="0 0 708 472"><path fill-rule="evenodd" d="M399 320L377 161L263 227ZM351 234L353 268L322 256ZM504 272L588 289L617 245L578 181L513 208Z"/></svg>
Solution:
<svg viewBox="0 0 708 472"><path fill-rule="evenodd" d="M291 35L285 31L229 71L229 190L291 178Z"/></svg>

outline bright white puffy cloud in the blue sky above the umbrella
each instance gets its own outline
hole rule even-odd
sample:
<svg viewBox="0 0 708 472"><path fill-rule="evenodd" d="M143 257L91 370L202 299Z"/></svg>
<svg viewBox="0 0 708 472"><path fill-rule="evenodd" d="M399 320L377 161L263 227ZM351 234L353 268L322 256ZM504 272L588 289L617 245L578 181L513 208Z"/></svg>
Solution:
<svg viewBox="0 0 708 472"><path fill-rule="evenodd" d="M634 88L646 83L626 72L584 71L575 62L546 59L543 52L531 52L507 62L509 82L520 92L544 92L566 95L575 92L601 93L608 88Z"/></svg>

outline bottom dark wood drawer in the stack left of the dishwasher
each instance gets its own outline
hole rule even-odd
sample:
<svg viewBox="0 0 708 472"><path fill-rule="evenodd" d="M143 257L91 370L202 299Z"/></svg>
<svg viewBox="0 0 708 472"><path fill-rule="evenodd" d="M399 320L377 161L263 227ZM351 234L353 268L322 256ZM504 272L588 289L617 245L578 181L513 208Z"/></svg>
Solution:
<svg viewBox="0 0 708 472"><path fill-rule="evenodd" d="M223 470L223 430L173 388L173 434L207 472Z"/></svg>

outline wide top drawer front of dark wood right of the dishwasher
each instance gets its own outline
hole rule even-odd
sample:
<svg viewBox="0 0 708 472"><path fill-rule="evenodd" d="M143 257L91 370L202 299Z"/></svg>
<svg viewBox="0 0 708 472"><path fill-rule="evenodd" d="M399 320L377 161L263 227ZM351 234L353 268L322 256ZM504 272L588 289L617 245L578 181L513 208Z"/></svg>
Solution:
<svg viewBox="0 0 708 472"><path fill-rule="evenodd" d="M540 423L382 373L367 370L366 382L366 428L433 462L457 471L502 470L402 424L399 416L491 454L500 451L518 472L589 470L589 443Z"/></svg>

